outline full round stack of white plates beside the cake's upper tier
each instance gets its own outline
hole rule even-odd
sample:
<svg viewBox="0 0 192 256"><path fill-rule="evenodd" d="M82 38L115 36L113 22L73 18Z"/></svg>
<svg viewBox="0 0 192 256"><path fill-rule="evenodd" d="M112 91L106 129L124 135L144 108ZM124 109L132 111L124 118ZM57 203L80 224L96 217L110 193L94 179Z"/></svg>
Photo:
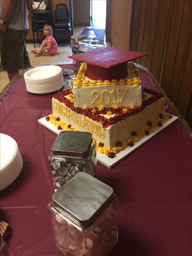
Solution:
<svg viewBox="0 0 192 256"><path fill-rule="evenodd" d="M26 89L32 93L55 92L63 87L61 67L41 66L28 70L24 74Z"/></svg>

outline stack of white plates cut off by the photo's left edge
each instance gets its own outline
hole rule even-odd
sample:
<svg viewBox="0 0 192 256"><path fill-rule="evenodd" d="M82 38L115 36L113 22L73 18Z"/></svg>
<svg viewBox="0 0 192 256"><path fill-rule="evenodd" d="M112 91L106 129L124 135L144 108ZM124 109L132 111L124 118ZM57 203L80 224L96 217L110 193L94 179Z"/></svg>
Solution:
<svg viewBox="0 0 192 256"><path fill-rule="evenodd" d="M23 160L16 141L0 133L0 190L9 186L20 174Z"/></svg>

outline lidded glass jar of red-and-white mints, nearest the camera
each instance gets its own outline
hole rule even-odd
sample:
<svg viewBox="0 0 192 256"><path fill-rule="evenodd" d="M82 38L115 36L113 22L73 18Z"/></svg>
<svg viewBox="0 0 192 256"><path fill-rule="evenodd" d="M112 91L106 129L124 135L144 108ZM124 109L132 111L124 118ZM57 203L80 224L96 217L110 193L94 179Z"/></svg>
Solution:
<svg viewBox="0 0 192 256"><path fill-rule="evenodd" d="M118 197L80 172L52 196L48 209L57 248L66 256L104 256L118 239Z"/></svg>

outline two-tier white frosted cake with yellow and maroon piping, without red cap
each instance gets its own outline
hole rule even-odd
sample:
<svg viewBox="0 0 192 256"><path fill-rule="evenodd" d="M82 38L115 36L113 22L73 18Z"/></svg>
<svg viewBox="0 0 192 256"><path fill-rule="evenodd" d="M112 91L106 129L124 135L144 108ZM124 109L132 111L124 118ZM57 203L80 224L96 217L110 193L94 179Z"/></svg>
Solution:
<svg viewBox="0 0 192 256"><path fill-rule="evenodd" d="M134 63L126 63L126 69L123 79L112 74L114 79L94 80L82 63L74 87L52 98L53 114L46 120L58 129L91 132L97 150L109 157L134 146L170 116L163 95L142 87Z"/></svg>

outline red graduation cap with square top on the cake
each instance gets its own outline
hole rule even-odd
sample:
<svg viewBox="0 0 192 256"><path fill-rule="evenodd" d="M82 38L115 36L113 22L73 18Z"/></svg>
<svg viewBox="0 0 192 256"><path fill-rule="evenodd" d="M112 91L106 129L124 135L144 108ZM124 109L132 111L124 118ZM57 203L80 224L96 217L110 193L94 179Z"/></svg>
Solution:
<svg viewBox="0 0 192 256"><path fill-rule="evenodd" d="M148 53L104 47L69 56L69 58L87 63L86 74L90 79L119 80L125 78L128 74L127 62L146 55L148 55Z"/></svg>

